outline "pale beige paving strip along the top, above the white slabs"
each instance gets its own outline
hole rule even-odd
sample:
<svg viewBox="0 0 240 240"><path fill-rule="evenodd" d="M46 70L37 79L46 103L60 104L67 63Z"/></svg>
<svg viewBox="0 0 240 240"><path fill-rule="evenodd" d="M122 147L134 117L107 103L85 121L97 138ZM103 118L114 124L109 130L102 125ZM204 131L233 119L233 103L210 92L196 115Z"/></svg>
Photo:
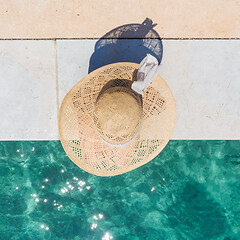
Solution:
<svg viewBox="0 0 240 240"><path fill-rule="evenodd" d="M0 38L99 38L123 24L162 38L239 38L239 0L0 0Z"/></svg>

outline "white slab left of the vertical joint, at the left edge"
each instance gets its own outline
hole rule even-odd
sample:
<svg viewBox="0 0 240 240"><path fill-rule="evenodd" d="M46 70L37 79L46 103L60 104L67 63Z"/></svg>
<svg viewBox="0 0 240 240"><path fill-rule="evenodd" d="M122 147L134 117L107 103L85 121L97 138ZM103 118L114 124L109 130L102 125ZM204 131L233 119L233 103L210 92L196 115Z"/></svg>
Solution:
<svg viewBox="0 0 240 240"><path fill-rule="evenodd" d="M54 41L0 41L0 140L57 139Z"/></svg>

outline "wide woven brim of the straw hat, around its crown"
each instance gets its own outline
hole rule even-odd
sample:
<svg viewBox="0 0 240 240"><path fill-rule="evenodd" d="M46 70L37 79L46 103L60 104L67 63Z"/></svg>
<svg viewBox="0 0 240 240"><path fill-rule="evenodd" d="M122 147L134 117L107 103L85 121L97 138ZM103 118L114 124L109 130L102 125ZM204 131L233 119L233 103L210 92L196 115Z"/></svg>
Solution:
<svg viewBox="0 0 240 240"><path fill-rule="evenodd" d="M120 62L101 67L80 80L65 96L59 112L59 135L68 157L97 176L115 176L136 169L156 157L168 143L176 121L173 95L159 76L146 89L143 122L137 137L123 147L112 147L98 136L94 103L104 86L124 86L136 80L139 64Z"/></svg>

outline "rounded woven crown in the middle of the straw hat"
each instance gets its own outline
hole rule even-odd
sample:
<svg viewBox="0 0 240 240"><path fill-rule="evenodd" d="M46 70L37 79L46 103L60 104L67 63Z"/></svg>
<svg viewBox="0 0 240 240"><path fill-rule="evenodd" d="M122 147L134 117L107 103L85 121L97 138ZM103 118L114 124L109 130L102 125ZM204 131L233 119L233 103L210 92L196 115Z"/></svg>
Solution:
<svg viewBox="0 0 240 240"><path fill-rule="evenodd" d="M139 95L125 87L113 87L101 93L93 110L98 135L113 146L130 143L140 130L142 118Z"/></svg>

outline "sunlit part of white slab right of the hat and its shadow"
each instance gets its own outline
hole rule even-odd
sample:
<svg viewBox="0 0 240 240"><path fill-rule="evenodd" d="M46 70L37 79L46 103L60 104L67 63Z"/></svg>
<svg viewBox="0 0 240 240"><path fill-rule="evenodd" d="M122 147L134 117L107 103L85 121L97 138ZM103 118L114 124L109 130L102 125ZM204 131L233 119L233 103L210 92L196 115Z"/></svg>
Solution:
<svg viewBox="0 0 240 240"><path fill-rule="evenodd" d="M240 41L163 42L160 75L176 101L172 139L240 139Z"/></svg>

